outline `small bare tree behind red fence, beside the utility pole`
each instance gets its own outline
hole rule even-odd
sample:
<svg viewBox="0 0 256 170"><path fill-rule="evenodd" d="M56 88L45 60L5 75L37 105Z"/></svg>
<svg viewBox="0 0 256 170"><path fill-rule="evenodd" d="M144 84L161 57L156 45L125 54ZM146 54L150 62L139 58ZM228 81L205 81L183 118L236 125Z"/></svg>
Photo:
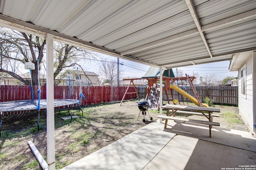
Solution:
<svg viewBox="0 0 256 170"><path fill-rule="evenodd" d="M120 67L119 75L121 77L124 72L123 68ZM114 86L117 82L117 63L115 62L102 62L99 67L99 74L104 83L109 83Z"/></svg>

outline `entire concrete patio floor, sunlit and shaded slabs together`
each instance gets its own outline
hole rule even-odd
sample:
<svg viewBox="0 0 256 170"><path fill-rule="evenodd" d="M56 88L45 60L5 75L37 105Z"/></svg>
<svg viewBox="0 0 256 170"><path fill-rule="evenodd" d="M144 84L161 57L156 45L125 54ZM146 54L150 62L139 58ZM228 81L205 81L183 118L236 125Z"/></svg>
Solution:
<svg viewBox="0 0 256 170"><path fill-rule="evenodd" d="M62 170L221 170L256 165L256 138L249 132L213 127L209 138L208 126L168 121L167 127L164 121L149 123Z"/></svg>

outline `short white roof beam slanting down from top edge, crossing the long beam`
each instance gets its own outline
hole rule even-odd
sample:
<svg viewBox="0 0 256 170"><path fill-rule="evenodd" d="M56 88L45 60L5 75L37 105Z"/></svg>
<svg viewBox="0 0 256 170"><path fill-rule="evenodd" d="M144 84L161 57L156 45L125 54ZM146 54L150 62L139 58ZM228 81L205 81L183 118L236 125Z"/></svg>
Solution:
<svg viewBox="0 0 256 170"><path fill-rule="evenodd" d="M198 29L201 37L202 37L202 40L204 41L204 45L205 45L205 47L206 47L210 57L212 57L212 53L210 51L210 48L209 48L208 43L206 41L206 38L204 37L204 33L202 31L202 27L201 27L200 21L198 19L197 14L196 14L196 10L194 8L194 4L193 4L192 0L185 0L185 1L186 1L187 6L188 6L188 9L190 11L190 14L192 15L192 18L193 18L193 20L194 20L194 22L196 24L196 27L197 27L197 29Z"/></svg>

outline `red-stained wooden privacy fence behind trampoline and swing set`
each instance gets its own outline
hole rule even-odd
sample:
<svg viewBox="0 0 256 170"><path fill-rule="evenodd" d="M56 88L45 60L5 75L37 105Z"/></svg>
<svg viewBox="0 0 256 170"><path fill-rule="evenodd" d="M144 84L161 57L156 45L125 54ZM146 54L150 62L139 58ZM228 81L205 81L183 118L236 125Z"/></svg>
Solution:
<svg viewBox="0 0 256 170"><path fill-rule="evenodd" d="M46 86L40 86L40 99L46 99ZM121 101L127 87L103 87L103 86L82 86L82 94L86 100L81 99L80 106L117 102ZM33 86L34 99L38 99L38 86ZM80 86L71 87L70 99L79 100ZM128 92L134 92L133 87L129 87ZM68 86L54 86L55 99L68 99ZM136 99L136 94L127 94L124 100ZM0 102L32 100L30 86L8 86L1 85Z"/></svg>

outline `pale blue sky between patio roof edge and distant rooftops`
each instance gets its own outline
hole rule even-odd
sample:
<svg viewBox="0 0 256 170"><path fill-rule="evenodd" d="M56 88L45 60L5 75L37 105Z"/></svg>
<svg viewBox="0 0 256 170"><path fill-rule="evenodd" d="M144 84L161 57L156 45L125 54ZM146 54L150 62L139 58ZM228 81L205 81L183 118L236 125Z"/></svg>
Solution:
<svg viewBox="0 0 256 170"><path fill-rule="evenodd" d="M112 57L104 54L100 54L100 55L102 58L104 58L102 59L102 61L117 62L117 57ZM125 59L119 59L119 61L120 61L120 64L123 64L122 67L125 70L124 77L141 78L142 76L144 76L144 74L150 67L145 64L140 64L140 63L128 61ZM238 75L238 71L230 72L228 70L229 64L230 64L230 61L221 61L221 62L215 62L215 63L198 64L198 65L172 68L172 70L173 72L176 72L176 69L182 70L184 74L186 73L189 76L193 76L193 73L196 76L204 76L206 74L215 74L215 77L217 80L222 80L227 76L236 77ZM99 65L100 63L92 62L84 66L84 70L98 73L97 68Z"/></svg>

